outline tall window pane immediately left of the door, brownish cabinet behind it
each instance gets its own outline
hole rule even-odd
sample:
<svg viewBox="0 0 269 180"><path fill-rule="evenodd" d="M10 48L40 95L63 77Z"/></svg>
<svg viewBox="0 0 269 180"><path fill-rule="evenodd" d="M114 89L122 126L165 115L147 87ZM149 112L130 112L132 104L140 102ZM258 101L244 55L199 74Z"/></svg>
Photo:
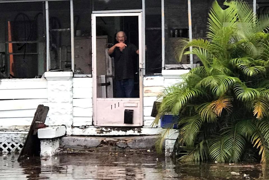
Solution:
<svg viewBox="0 0 269 180"><path fill-rule="evenodd" d="M91 74L91 11L89 0L73 1L75 74Z"/></svg>

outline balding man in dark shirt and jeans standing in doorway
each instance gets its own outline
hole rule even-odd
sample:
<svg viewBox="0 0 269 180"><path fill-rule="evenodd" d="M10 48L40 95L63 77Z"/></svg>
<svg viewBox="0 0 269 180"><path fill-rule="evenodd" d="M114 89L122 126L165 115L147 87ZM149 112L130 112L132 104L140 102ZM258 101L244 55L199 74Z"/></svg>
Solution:
<svg viewBox="0 0 269 180"><path fill-rule="evenodd" d="M134 97L134 62L139 54L138 48L126 42L125 32L119 31L116 34L117 44L108 49L110 57L114 57L116 97Z"/></svg>

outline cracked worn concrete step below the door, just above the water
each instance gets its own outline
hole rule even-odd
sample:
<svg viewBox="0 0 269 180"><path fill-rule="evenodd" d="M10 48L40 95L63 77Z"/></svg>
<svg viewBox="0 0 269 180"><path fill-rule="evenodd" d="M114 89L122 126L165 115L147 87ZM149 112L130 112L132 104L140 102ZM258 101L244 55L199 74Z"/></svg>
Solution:
<svg viewBox="0 0 269 180"><path fill-rule="evenodd" d="M60 148L91 150L139 150L154 149L159 136L66 136L60 140Z"/></svg>

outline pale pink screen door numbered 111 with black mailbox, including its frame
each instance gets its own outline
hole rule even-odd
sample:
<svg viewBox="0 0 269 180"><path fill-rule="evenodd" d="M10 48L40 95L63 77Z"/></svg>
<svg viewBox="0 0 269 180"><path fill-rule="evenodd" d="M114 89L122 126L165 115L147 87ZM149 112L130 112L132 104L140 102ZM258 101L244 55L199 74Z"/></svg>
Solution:
<svg viewBox="0 0 269 180"><path fill-rule="evenodd" d="M142 13L93 13L93 119L95 126L143 126L142 53L133 60L134 97L116 96L115 61L108 49L124 31L128 43L142 52Z"/></svg>

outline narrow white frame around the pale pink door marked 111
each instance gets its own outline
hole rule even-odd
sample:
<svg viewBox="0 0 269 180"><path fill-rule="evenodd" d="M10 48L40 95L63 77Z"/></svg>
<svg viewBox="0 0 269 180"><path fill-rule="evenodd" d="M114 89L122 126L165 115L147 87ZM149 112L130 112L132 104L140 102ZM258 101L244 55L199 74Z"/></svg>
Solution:
<svg viewBox="0 0 269 180"><path fill-rule="evenodd" d="M130 10L129 10L130 11ZM139 99L140 104L140 121L141 126L144 125L144 106L143 106L143 51L144 48L144 35L142 34L142 12L125 12L125 13L92 13L91 14L91 22L92 22L92 77L93 77L93 120L94 125L96 125L97 120L97 75L96 75L96 17L115 17L115 16L137 16L138 17L138 38L139 38L139 98L131 98L131 99ZM98 98L104 99L104 98ZM107 99L107 98L106 98ZM113 98L114 99L114 98ZM115 98L120 99L120 98ZM122 98L127 99L127 98Z"/></svg>

